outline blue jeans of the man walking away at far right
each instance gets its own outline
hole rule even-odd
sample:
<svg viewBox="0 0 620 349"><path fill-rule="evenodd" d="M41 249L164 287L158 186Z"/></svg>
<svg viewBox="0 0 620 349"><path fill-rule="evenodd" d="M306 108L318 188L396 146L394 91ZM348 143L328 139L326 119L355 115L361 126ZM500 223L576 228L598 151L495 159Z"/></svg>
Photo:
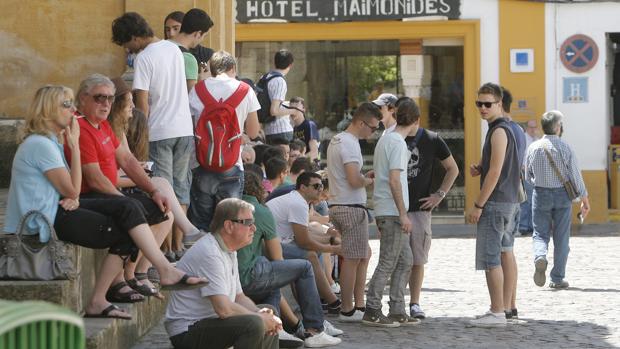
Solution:
<svg viewBox="0 0 620 349"><path fill-rule="evenodd" d="M564 188L534 188L534 260L547 256L549 238L553 234L553 269L551 281L564 280L568 260L568 240L573 206Z"/></svg>

